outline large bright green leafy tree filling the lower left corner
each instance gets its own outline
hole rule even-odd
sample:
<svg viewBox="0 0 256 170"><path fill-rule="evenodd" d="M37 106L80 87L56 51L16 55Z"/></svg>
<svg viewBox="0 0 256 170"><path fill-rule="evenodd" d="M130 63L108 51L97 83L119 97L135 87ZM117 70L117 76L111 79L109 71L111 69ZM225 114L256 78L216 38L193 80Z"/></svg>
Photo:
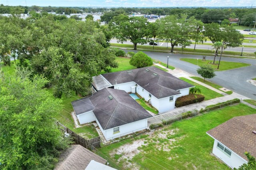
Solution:
<svg viewBox="0 0 256 170"><path fill-rule="evenodd" d="M0 169L53 169L59 150L68 147L54 123L60 100L43 89L48 83L28 70L0 71Z"/></svg>

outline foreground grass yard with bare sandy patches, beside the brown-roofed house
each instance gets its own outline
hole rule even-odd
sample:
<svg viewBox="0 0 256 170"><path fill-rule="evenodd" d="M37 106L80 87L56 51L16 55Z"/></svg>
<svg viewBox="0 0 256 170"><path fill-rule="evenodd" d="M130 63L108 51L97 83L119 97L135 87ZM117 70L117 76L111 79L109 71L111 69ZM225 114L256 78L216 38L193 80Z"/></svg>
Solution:
<svg viewBox="0 0 256 170"><path fill-rule="evenodd" d="M110 166L117 169L162 170L175 167L179 170L229 170L211 154L214 139L206 132L233 117L255 112L256 109L240 103L172 123L148 134L120 140L97 148L95 152L103 158L110 158Z"/></svg>

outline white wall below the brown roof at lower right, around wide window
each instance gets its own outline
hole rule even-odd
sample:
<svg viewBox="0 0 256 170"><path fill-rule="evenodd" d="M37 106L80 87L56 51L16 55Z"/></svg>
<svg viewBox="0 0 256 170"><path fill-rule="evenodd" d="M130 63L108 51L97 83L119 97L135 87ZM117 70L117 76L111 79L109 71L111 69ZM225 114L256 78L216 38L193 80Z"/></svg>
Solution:
<svg viewBox="0 0 256 170"><path fill-rule="evenodd" d="M230 166L231 168L238 168L239 166L241 166L244 163L247 163L246 160L244 160L243 158L241 158L240 156L238 156L235 152L232 151L231 156L227 155L224 153L224 151L220 150L217 147L218 144L218 140L214 140L214 145L213 145L213 149L212 149L212 153L217 156L220 160L222 160L225 164L227 164L228 166ZM220 143L222 144L222 143ZM224 144L222 144L223 146L225 146ZM226 147L226 146L225 146Z"/></svg>

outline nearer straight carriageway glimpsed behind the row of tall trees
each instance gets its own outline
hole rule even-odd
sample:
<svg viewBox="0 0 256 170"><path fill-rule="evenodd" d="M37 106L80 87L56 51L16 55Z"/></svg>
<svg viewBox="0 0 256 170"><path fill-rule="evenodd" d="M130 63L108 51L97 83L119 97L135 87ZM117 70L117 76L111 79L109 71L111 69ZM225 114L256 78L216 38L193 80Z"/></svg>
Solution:
<svg viewBox="0 0 256 170"><path fill-rule="evenodd" d="M117 40L111 40L110 43L117 43ZM124 44L133 44L130 41L124 42ZM144 45L149 45L149 43L144 44ZM159 42L158 46L161 47L167 47L167 43L164 42ZM168 47L170 47L170 43L168 43ZM180 46L178 46L180 47ZM189 47L186 48L192 48L194 49L194 44L191 44ZM208 49L208 50L212 50L212 45L196 45L196 49ZM175 47L174 47L174 51L175 51ZM230 48L226 48L225 51L238 51L238 52L242 52L242 47L230 47ZM249 48L249 47L244 47L243 52L249 52L249 53L254 53L256 51L256 48Z"/></svg>

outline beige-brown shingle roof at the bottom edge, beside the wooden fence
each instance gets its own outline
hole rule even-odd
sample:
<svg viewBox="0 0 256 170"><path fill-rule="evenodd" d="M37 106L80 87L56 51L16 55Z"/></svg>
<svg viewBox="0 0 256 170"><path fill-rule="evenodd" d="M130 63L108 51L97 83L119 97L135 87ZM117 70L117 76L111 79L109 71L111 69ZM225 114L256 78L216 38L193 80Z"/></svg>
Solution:
<svg viewBox="0 0 256 170"><path fill-rule="evenodd" d="M106 164L106 160L81 145L72 145L59 157L55 170L85 170L91 160Z"/></svg>

